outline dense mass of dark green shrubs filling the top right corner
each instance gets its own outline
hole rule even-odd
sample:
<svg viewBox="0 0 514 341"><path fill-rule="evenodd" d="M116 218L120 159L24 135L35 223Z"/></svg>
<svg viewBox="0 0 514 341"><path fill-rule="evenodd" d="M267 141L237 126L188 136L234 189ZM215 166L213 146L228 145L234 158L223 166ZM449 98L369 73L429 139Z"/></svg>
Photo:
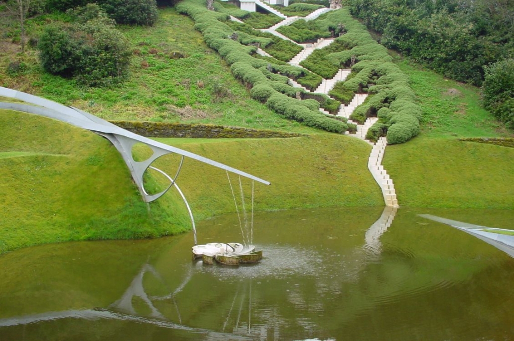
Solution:
<svg viewBox="0 0 514 341"><path fill-rule="evenodd" d="M483 65L514 51L512 3L349 0L348 5L382 34L384 46L458 81L480 85Z"/></svg>

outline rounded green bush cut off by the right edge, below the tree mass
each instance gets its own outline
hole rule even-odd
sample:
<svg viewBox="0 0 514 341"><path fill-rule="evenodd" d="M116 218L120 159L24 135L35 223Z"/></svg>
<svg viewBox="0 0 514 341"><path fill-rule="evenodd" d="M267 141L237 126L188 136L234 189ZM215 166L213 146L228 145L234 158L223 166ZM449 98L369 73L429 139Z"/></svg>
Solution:
<svg viewBox="0 0 514 341"><path fill-rule="evenodd" d="M484 107L514 129L514 59L504 59L485 68L482 85Z"/></svg>

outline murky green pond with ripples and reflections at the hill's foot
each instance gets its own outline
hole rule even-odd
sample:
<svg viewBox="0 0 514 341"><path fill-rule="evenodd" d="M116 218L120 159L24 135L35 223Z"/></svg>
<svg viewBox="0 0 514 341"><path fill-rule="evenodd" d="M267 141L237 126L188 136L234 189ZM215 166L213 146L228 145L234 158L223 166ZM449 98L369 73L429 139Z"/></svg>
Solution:
<svg viewBox="0 0 514 341"><path fill-rule="evenodd" d="M246 266L193 262L193 234L0 256L0 340L514 340L514 258L448 225L514 211L259 213ZM241 241L237 216L198 242ZM251 234L249 235L251 238Z"/></svg>

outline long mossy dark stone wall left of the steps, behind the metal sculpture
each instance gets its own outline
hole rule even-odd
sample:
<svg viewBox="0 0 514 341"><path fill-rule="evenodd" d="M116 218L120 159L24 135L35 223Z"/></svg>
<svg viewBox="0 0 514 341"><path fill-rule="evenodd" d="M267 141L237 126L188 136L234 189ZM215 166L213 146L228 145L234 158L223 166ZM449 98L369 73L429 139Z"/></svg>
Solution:
<svg viewBox="0 0 514 341"><path fill-rule="evenodd" d="M164 122L136 122L136 121L109 121L120 128L134 132L145 137L162 138L202 138L202 139L227 139L227 138L290 138L307 136L294 132L259 130L242 127L227 127L213 124L185 124Z"/></svg>

